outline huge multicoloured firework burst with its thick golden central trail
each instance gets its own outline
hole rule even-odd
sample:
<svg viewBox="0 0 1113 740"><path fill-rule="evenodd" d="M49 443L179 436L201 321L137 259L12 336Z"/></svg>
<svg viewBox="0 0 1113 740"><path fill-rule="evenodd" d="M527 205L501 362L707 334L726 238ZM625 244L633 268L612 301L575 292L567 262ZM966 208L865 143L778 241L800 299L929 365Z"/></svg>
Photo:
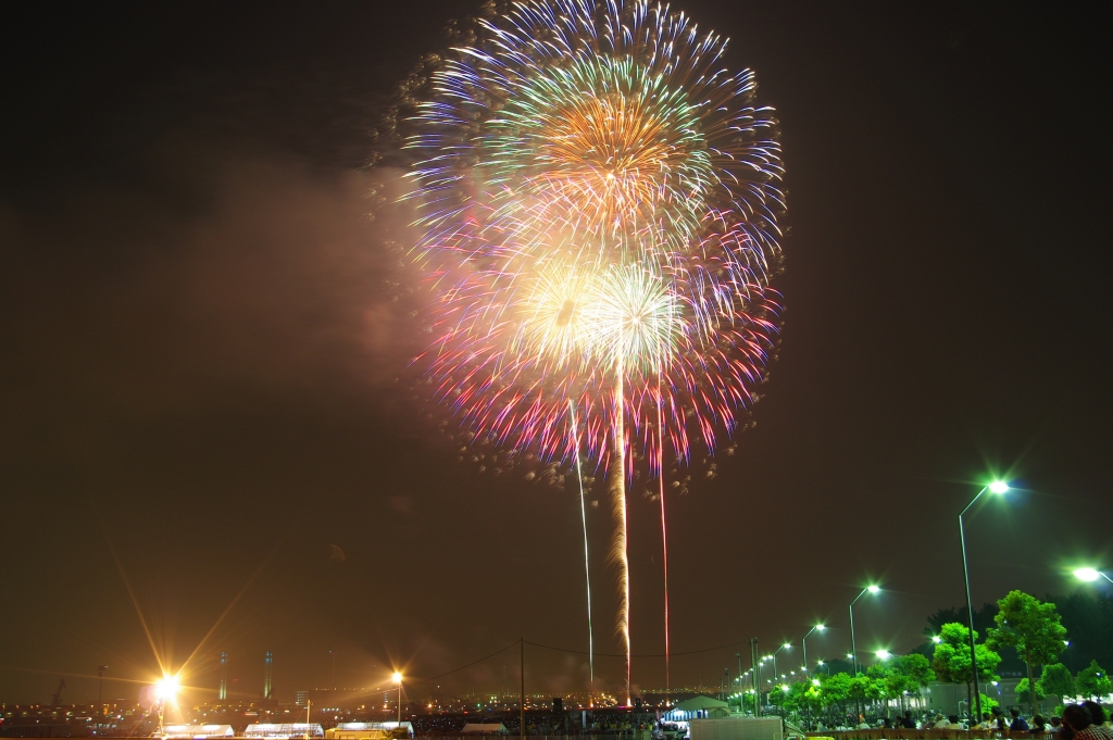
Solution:
<svg viewBox="0 0 1113 740"><path fill-rule="evenodd" d="M405 86L429 382L605 471L628 689L627 482L660 478L667 553L666 460L745 428L779 328L776 120L725 48L649 0L494 0Z"/></svg>

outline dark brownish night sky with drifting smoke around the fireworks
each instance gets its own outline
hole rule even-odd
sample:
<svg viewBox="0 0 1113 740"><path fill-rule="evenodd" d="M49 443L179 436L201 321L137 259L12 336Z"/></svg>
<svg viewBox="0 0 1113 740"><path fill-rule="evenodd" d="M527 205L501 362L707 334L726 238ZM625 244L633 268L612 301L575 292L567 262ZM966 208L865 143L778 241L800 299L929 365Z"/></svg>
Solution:
<svg viewBox="0 0 1113 740"><path fill-rule="evenodd" d="M134 698L158 665L137 610L165 660L193 654L186 683L214 689L227 650L245 697L266 650L290 698L332 684L329 650L370 687L523 635L585 648L572 489L457 463L395 383L393 227L366 217L391 172L361 165L392 85L474 8L386 6L4 7L0 700L60 677L91 700L106 663ZM674 7L778 109L790 231L757 426L669 501L673 650L823 619L809 655L845 653L874 580L859 651L912 649L964 603L955 517L994 474L1020 490L968 520L976 603L1113 566L1110 4ZM637 653L662 649L657 511L631 500ZM605 505L589 526L614 653ZM676 658L673 683L736 650ZM582 655L526 660L532 689L584 685Z"/></svg>

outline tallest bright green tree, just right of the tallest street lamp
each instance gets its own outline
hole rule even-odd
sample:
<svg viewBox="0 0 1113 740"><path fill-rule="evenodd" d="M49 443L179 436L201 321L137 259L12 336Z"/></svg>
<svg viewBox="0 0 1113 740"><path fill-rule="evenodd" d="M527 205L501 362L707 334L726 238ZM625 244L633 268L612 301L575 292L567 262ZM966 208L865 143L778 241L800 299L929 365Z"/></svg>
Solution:
<svg viewBox="0 0 1113 740"><path fill-rule="evenodd" d="M1045 665L1066 647L1066 628L1060 623L1055 604L1044 603L1023 591L1009 591L997 602L999 611L989 630L989 645L1015 648L1028 668L1028 695L1032 711L1036 709L1035 681L1032 665Z"/></svg>

